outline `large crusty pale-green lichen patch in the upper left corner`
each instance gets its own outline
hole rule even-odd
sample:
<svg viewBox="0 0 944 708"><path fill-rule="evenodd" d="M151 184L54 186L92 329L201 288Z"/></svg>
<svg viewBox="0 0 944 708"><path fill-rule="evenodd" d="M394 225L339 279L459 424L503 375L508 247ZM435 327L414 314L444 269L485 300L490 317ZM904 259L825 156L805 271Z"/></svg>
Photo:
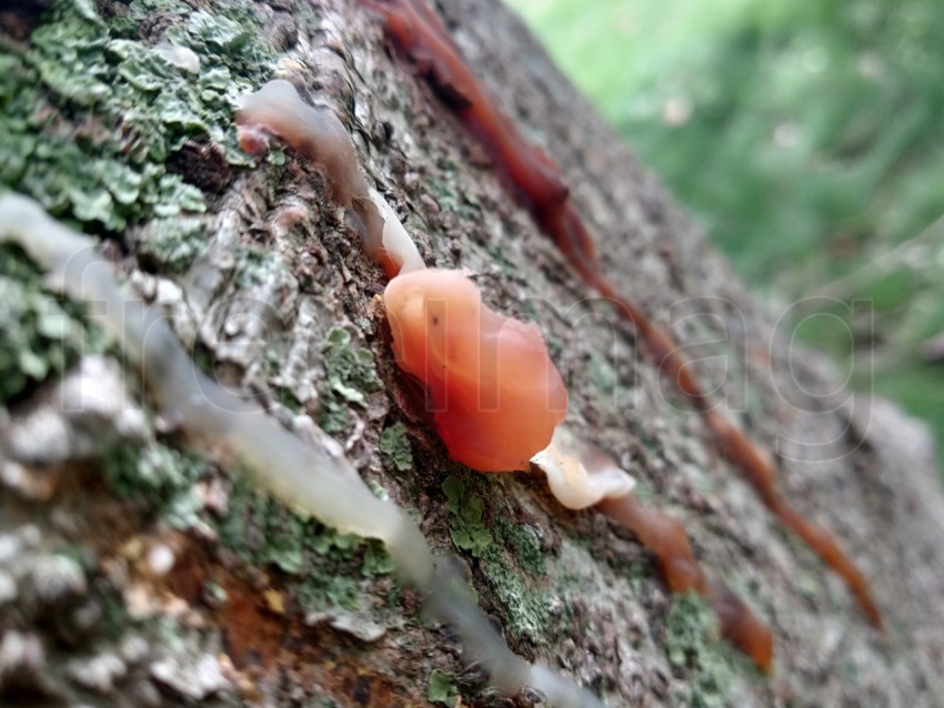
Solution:
<svg viewBox="0 0 944 708"><path fill-rule="evenodd" d="M199 54L197 74L124 37L133 22L104 21L90 0L59 2L27 51L0 50L0 183L98 232L204 211L201 191L164 163L191 139L244 163L233 101L269 73L271 57L247 10L171 4L179 24L167 39ZM132 2L130 14L148 8Z"/></svg>

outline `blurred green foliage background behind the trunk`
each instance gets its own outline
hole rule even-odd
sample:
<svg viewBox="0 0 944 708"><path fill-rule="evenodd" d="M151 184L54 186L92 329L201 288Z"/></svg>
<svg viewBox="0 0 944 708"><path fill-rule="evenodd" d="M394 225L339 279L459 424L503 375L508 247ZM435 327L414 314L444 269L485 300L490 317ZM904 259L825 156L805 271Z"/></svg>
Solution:
<svg viewBox="0 0 944 708"><path fill-rule="evenodd" d="M796 336L927 419L941 459L940 0L509 2Z"/></svg>

